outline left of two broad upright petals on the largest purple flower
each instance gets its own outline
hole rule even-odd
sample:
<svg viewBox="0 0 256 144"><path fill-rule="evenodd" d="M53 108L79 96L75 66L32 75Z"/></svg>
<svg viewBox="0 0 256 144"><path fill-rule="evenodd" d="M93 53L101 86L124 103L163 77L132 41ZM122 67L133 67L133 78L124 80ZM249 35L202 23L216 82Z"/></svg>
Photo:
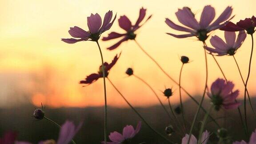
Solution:
<svg viewBox="0 0 256 144"><path fill-rule="evenodd" d="M182 9L179 9L178 12L176 12L175 14L181 24L184 24L185 26L195 30L200 29L200 25L188 8L184 7Z"/></svg>

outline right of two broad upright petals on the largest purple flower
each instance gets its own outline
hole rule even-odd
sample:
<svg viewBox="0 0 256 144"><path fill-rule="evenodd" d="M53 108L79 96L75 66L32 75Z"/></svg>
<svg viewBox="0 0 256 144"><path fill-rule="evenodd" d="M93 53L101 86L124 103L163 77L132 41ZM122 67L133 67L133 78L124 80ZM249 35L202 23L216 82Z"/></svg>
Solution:
<svg viewBox="0 0 256 144"><path fill-rule="evenodd" d="M212 8L210 5L205 6L199 22L201 28L207 28L209 24L212 22L212 20L214 19L214 17L215 17L214 8Z"/></svg>

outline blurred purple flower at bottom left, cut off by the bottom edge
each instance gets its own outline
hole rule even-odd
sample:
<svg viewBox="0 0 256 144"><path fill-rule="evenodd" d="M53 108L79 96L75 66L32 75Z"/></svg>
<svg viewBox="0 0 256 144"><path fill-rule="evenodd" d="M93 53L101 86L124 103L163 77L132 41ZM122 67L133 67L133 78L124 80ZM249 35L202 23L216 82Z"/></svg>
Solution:
<svg viewBox="0 0 256 144"><path fill-rule="evenodd" d="M73 122L66 121L60 128L59 139L56 144L69 144L79 129L82 127L83 123L80 123L77 127ZM48 144L47 142L55 143L54 140L41 141L38 144ZM51 144L51 143L50 143Z"/></svg>

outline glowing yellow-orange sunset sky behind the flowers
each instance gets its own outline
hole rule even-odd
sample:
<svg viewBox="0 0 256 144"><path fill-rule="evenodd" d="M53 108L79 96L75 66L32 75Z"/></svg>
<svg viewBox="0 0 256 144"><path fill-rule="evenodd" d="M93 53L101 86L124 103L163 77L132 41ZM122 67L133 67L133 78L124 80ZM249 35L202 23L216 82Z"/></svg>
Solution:
<svg viewBox="0 0 256 144"><path fill-rule="evenodd" d="M139 10L147 8L147 16L152 18L137 32L136 40L151 54L162 67L178 81L180 56L188 56L191 63L184 66L182 85L193 95L200 95L204 89L205 63L202 42L195 37L177 39L165 34L180 34L165 24L165 18L180 24L175 16L178 8L188 6L196 13L197 20L205 5L212 5L216 17L227 6L232 6L233 22L256 15L255 0L1 0L0 1L0 107L31 101L35 105L42 102L51 107L87 107L104 104L103 80L82 87L79 84L87 75L97 72L101 64L100 53L95 42L66 44L61 38L71 38L70 27L87 28L87 16L99 13L101 17L108 10L117 13L117 19L126 15L134 24ZM112 28L104 32L124 32L116 20ZM216 30L211 36L224 37L224 32ZM209 40L209 39L208 39ZM179 98L178 86L168 79L156 65L138 48L132 40L124 42L119 48L108 51L106 48L117 40L102 41L104 60L111 62L122 51L117 64L112 68L109 78L117 88L136 106L149 106L158 101L151 90L137 80L128 77L125 71L132 67L137 76L146 80L159 94L164 103L166 98L161 91L173 88L171 100ZM251 38L248 36L237 51L236 58L244 78L248 72ZM207 44L210 45L209 41ZM251 77L248 91L256 94L256 59L252 59ZM209 60L208 85L222 77L212 57ZM231 56L217 57L228 80L232 80L243 97L244 86ZM126 107L124 100L107 81L108 104ZM188 96L183 92L183 98ZM10 103L9 103L10 102Z"/></svg>

